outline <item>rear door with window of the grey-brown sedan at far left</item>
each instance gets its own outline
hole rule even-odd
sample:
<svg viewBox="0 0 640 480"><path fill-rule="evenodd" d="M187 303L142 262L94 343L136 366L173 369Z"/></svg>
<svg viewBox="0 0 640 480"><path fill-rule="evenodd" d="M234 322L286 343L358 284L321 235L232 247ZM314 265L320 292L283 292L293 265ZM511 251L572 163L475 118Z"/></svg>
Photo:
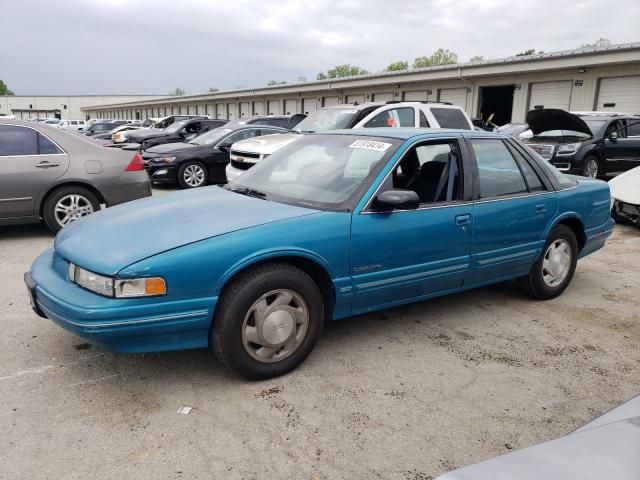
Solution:
<svg viewBox="0 0 640 480"><path fill-rule="evenodd" d="M35 199L68 166L66 152L42 133L0 125L0 218L33 216Z"/></svg>

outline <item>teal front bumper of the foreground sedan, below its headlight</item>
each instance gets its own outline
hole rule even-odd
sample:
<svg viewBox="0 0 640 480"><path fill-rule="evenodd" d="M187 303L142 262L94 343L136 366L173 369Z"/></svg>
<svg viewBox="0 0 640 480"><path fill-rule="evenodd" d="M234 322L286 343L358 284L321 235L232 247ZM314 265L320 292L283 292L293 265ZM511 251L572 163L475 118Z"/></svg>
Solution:
<svg viewBox="0 0 640 480"><path fill-rule="evenodd" d="M144 353L204 348L217 297L114 299L71 283L68 262L46 250L24 276L34 311L106 350Z"/></svg>

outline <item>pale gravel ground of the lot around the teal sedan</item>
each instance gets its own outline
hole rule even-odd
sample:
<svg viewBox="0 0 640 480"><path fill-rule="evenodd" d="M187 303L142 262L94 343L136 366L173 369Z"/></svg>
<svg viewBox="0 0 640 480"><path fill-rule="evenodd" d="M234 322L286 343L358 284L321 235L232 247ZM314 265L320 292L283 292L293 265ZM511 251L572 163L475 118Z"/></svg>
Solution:
<svg viewBox="0 0 640 480"><path fill-rule="evenodd" d="M558 299L502 284L336 322L301 368L260 383L208 351L113 355L37 317L22 273L51 243L0 227L3 479L424 480L640 393L631 227Z"/></svg>

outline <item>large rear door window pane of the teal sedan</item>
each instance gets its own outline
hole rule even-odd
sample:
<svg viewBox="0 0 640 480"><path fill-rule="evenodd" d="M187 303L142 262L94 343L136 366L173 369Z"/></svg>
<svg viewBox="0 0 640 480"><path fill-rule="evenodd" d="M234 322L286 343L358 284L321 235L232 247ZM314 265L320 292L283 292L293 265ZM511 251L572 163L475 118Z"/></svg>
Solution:
<svg viewBox="0 0 640 480"><path fill-rule="evenodd" d="M480 198L527 192L518 164L502 140L472 139L471 144L478 162Z"/></svg>

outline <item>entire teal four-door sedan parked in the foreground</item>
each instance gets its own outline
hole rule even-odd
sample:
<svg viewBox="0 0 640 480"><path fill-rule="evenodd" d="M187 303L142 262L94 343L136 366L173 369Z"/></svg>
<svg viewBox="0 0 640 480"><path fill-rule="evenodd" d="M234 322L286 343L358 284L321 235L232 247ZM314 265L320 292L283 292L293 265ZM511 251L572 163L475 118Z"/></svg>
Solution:
<svg viewBox="0 0 640 480"><path fill-rule="evenodd" d="M513 138L344 130L225 187L83 218L25 281L39 315L109 350L211 347L263 379L299 365L327 320L514 278L553 298L613 227L606 183Z"/></svg>

